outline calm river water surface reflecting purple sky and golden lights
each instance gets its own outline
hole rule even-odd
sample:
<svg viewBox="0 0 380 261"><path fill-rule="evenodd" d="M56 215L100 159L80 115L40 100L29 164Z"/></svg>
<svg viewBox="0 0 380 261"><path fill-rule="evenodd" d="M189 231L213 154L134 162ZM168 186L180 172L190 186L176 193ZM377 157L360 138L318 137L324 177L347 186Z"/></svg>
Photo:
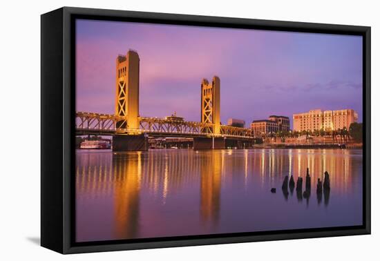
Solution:
<svg viewBox="0 0 380 261"><path fill-rule="evenodd" d="M362 224L361 150L76 152L77 242ZM310 168L309 198L284 194ZM316 180L330 173L330 194ZM275 187L277 193L271 193Z"/></svg>

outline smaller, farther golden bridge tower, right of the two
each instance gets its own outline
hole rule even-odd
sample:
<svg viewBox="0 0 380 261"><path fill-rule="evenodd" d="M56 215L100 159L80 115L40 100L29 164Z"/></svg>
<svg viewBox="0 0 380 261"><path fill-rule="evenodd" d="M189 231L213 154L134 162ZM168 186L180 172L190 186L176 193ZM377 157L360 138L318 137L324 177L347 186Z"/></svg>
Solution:
<svg viewBox="0 0 380 261"><path fill-rule="evenodd" d="M207 127L204 132L220 134L220 79L214 76L211 83L207 79L202 79L200 87L200 122L213 124L213 128Z"/></svg>

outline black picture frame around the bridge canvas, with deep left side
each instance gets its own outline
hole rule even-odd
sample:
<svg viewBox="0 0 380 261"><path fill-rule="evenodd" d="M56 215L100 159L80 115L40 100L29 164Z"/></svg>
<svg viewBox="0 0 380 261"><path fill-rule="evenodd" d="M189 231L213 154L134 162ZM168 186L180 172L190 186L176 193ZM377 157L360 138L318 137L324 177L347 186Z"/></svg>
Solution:
<svg viewBox="0 0 380 261"><path fill-rule="evenodd" d="M363 225L75 243L75 19L321 32L363 37ZM41 246L59 253L370 233L370 27L64 7L41 15Z"/></svg>

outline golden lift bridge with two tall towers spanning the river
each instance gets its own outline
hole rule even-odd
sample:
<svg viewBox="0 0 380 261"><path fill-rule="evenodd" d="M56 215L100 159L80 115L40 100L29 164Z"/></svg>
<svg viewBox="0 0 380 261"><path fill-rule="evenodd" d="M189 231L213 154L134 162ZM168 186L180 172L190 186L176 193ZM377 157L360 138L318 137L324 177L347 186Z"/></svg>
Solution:
<svg viewBox="0 0 380 261"><path fill-rule="evenodd" d="M254 142L250 128L220 124L220 79L201 81L200 122L180 117L142 117L139 114L140 58L136 51L116 59L115 114L75 113L76 135L112 135L114 151L145 151L147 136L192 137L194 149L248 147Z"/></svg>

